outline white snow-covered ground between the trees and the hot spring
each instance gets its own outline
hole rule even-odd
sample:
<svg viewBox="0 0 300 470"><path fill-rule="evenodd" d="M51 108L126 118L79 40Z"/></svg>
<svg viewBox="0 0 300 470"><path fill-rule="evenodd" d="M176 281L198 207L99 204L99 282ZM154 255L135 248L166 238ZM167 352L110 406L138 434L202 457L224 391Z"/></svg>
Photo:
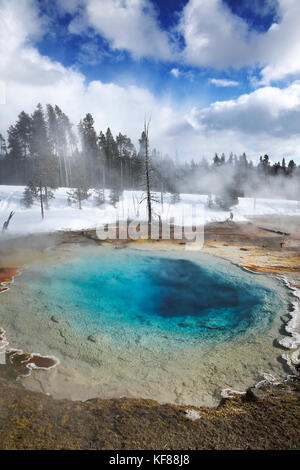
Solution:
<svg viewBox="0 0 300 470"><path fill-rule="evenodd" d="M49 232L56 230L77 230L83 228L93 228L101 224L113 222L116 215L120 219L136 218L137 208L139 208L141 219L146 219L146 203L139 204L142 199L142 192L125 191L124 197L119 202L117 209L106 204L105 207L96 206L94 193L83 202L82 210L73 204L71 207L67 202L67 188L60 188L55 191L55 199L50 201L49 210L45 211L44 220L41 219L39 203L26 209L21 202L23 197L23 186L0 186L0 229L3 222L11 211L15 214L5 236L22 235L36 232ZM109 190L106 191L109 200ZM160 195L157 195L160 200ZM170 204L170 196L165 195L163 213L160 203L154 204L155 214L162 214L163 219L169 219L171 215L180 215L184 208L188 213L192 206L197 208L197 223L208 223L213 221L224 221L229 217L229 212L217 208L207 207L207 195L182 194L180 203ZM232 209L235 221L245 221L249 216L261 215L298 215L300 216L300 202L280 199L256 199L240 198L239 204ZM188 225L191 218L185 218ZM193 219L195 222L195 219Z"/></svg>

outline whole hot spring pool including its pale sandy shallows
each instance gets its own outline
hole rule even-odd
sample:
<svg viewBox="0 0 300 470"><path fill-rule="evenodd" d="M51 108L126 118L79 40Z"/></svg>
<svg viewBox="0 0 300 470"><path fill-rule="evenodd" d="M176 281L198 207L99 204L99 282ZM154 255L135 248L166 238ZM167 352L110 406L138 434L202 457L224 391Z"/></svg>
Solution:
<svg viewBox="0 0 300 470"><path fill-rule="evenodd" d="M55 396L213 405L222 388L283 374L286 289L203 253L76 248L29 265L4 298L10 339L59 357L43 374Z"/></svg>

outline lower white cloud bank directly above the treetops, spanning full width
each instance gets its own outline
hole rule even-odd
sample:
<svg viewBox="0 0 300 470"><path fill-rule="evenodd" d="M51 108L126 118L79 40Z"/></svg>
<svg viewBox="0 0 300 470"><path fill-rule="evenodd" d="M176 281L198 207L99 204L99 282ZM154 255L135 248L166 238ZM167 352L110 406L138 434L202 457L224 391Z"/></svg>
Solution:
<svg viewBox="0 0 300 470"><path fill-rule="evenodd" d="M114 133L127 133L135 142L145 113L151 114L151 144L170 155L177 150L181 156L195 158L223 151L246 151L251 157L265 152L274 158L300 156L297 81L282 90L265 87L237 100L190 110L188 105L156 98L145 88L99 80L86 84L84 75L42 56L33 46L32 35L40 34L43 25L34 2L0 0L3 12L0 80L6 83L6 104L0 105L2 133L23 109L31 113L41 102L58 104L74 124L91 112L98 131L110 126Z"/></svg>

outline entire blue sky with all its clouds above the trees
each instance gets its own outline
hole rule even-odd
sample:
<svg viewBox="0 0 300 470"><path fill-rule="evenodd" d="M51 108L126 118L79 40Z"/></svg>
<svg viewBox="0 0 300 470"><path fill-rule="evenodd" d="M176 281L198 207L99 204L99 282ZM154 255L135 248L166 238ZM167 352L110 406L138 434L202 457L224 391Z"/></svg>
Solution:
<svg viewBox="0 0 300 470"><path fill-rule="evenodd" d="M0 131L37 101L182 158L300 160L299 0L0 0ZM10 38L8 43L7 38Z"/></svg>

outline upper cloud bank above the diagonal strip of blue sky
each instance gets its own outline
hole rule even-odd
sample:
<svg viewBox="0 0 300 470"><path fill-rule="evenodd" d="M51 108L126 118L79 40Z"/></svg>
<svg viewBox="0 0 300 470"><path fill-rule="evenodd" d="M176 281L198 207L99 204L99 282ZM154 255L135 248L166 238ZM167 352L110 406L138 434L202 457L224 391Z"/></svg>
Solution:
<svg viewBox="0 0 300 470"><path fill-rule="evenodd" d="M134 58L219 70L258 67L264 84L300 74L300 1L248 3L256 14L277 13L278 23L264 33L250 30L223 0L189 0L174 28L184 39L181 53L174 30L170 34L159 25L151 0L57 0L57 8L75 14L71 33L83 34L92 28L112 49L129 51Z"/></svg>

